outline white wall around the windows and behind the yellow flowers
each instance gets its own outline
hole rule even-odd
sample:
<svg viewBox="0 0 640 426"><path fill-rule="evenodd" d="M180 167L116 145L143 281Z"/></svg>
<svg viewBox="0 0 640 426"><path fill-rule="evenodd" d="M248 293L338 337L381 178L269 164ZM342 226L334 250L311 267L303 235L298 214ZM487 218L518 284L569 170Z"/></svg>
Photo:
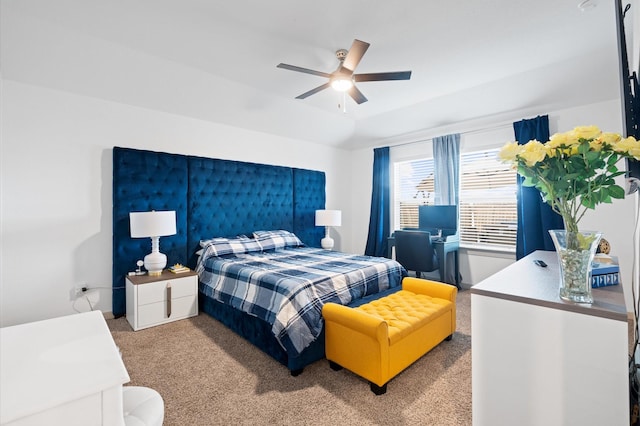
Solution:
<svg viewBox="0 0 640 426"><path fill-rule="evenodd" d="M413 139L403 139L400 142L390 140L392 146L391 161L401 161L410 158L431 157L431 138L449 133L460 132L461 151L473 152L484 148L498 148L506 142L515 139L511 123L523 118L536 115L549 115L550 133L564 132L581 125L597 125L603 131L621 132L622 118L620 102L618 100L585 105L578 108L529 112L524 115L513 115L509 120L505 117L487 119L483 122L460 123L448 126L446 129L429 130L424 134L413 135ZM457 127L457 128L456 128ZM395 146L394 146L395 144ZM354 176L352 182L354 193L351 210L355 217L368 217L371 200L371 168L373 166L373 149L362 149L352 152ZM619 165L624 167L624 162ZM624 187L624 179L618 183ZM627 309L632 311L631 274L633 263L633 239L635 198L614 200L612 204L602 204L595 211L589 211L580 222L581 229L593 229L603 232L612 247L612 254L618 256L622 281L625 287ZM364 249L367 239L367 223L354 224L352 227L352 248ZM471 286L488 278L500 269L515 261L515 254L497 253L477 249L461 249L460 272L463 284Z"/></svg>

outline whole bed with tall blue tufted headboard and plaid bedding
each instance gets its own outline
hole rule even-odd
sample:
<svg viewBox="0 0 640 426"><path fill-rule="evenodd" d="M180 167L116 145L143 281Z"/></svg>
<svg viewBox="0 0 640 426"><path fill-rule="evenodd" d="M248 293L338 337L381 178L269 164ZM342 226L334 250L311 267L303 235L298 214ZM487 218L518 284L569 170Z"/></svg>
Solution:
<svg viewBox="0 0 640 426"><path fill-rule="evenodd" d="M162 238L161 251L169 264L197 268L200 310L275 358L293 375L299 374L324 357L319 315L323 303L366 303L396 291L406 274L389 259L320 249L324 228L315 226L314 217L315 210L324 208L325 176L320 171L114 147L114 316L126 310L123 283L127 271L149 251L149 241L130 238L129 212L175 210L177 233ZM285 257L276 261L279 255ZM303 258L320 271L298 265L285 272L278 267L277 274L286 279L272 277L262 282L262 286L277 289L269 297L275 294L282 302L285 309L280 312L280 305L264 308L264 303L239 297L248 288L250 294L267 297L269 293L257 290L252 278L233 282L222 278L228 271L254 277L255 270L228 262L244 262L246 267L256 258L264 260L256 267L271 272L276 265ZM354 276L362 277L360 283ZM216 289L215 283L227 290ZM298 298L289 300L287 292L297 292ZM305 303L300 304L300 298L306 298ZM296 320L282 320L285 312L293 313Z"/></svg>

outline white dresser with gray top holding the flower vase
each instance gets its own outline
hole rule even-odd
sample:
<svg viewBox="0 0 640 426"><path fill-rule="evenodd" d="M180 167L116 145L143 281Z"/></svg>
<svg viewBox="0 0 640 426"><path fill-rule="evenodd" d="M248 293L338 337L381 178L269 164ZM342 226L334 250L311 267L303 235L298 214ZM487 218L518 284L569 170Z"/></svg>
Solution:
<svg viewBox="0 0 640 426"><path fill-rule="evenodd" d="M471 288L474 426L629 424L622 286L589 306L558 282L556 253L537 251Z"/></svg>

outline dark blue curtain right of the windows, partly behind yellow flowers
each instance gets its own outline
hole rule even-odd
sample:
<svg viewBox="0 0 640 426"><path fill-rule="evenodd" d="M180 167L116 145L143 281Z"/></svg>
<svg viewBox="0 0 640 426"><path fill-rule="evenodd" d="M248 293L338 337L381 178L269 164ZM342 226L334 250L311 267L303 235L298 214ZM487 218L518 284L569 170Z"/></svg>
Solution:
<svg viewBox="0 0 640 426"><path fill-rule="evenodd" d="M549 140L549 117L538 116L530 120L513 123L516 140L523 145L531 139L540 142ZM523 178L518 175L518 228L516 259L521 259L536 250L555 250L549 236L550 229L564 229L562 216L542 201L540 191L522 186Z"/></svg>

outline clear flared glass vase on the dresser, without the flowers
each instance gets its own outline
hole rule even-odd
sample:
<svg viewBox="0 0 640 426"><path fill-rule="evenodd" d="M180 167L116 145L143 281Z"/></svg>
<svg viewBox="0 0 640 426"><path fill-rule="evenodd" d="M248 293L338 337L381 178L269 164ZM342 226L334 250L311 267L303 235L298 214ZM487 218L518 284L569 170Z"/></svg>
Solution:
<svg viewBox="0 0 640 426"><path fill-rule="evenodd" d="M560 267L560 298L575 303L593 303L591 264L602 233L550 230Z"/></svg>

